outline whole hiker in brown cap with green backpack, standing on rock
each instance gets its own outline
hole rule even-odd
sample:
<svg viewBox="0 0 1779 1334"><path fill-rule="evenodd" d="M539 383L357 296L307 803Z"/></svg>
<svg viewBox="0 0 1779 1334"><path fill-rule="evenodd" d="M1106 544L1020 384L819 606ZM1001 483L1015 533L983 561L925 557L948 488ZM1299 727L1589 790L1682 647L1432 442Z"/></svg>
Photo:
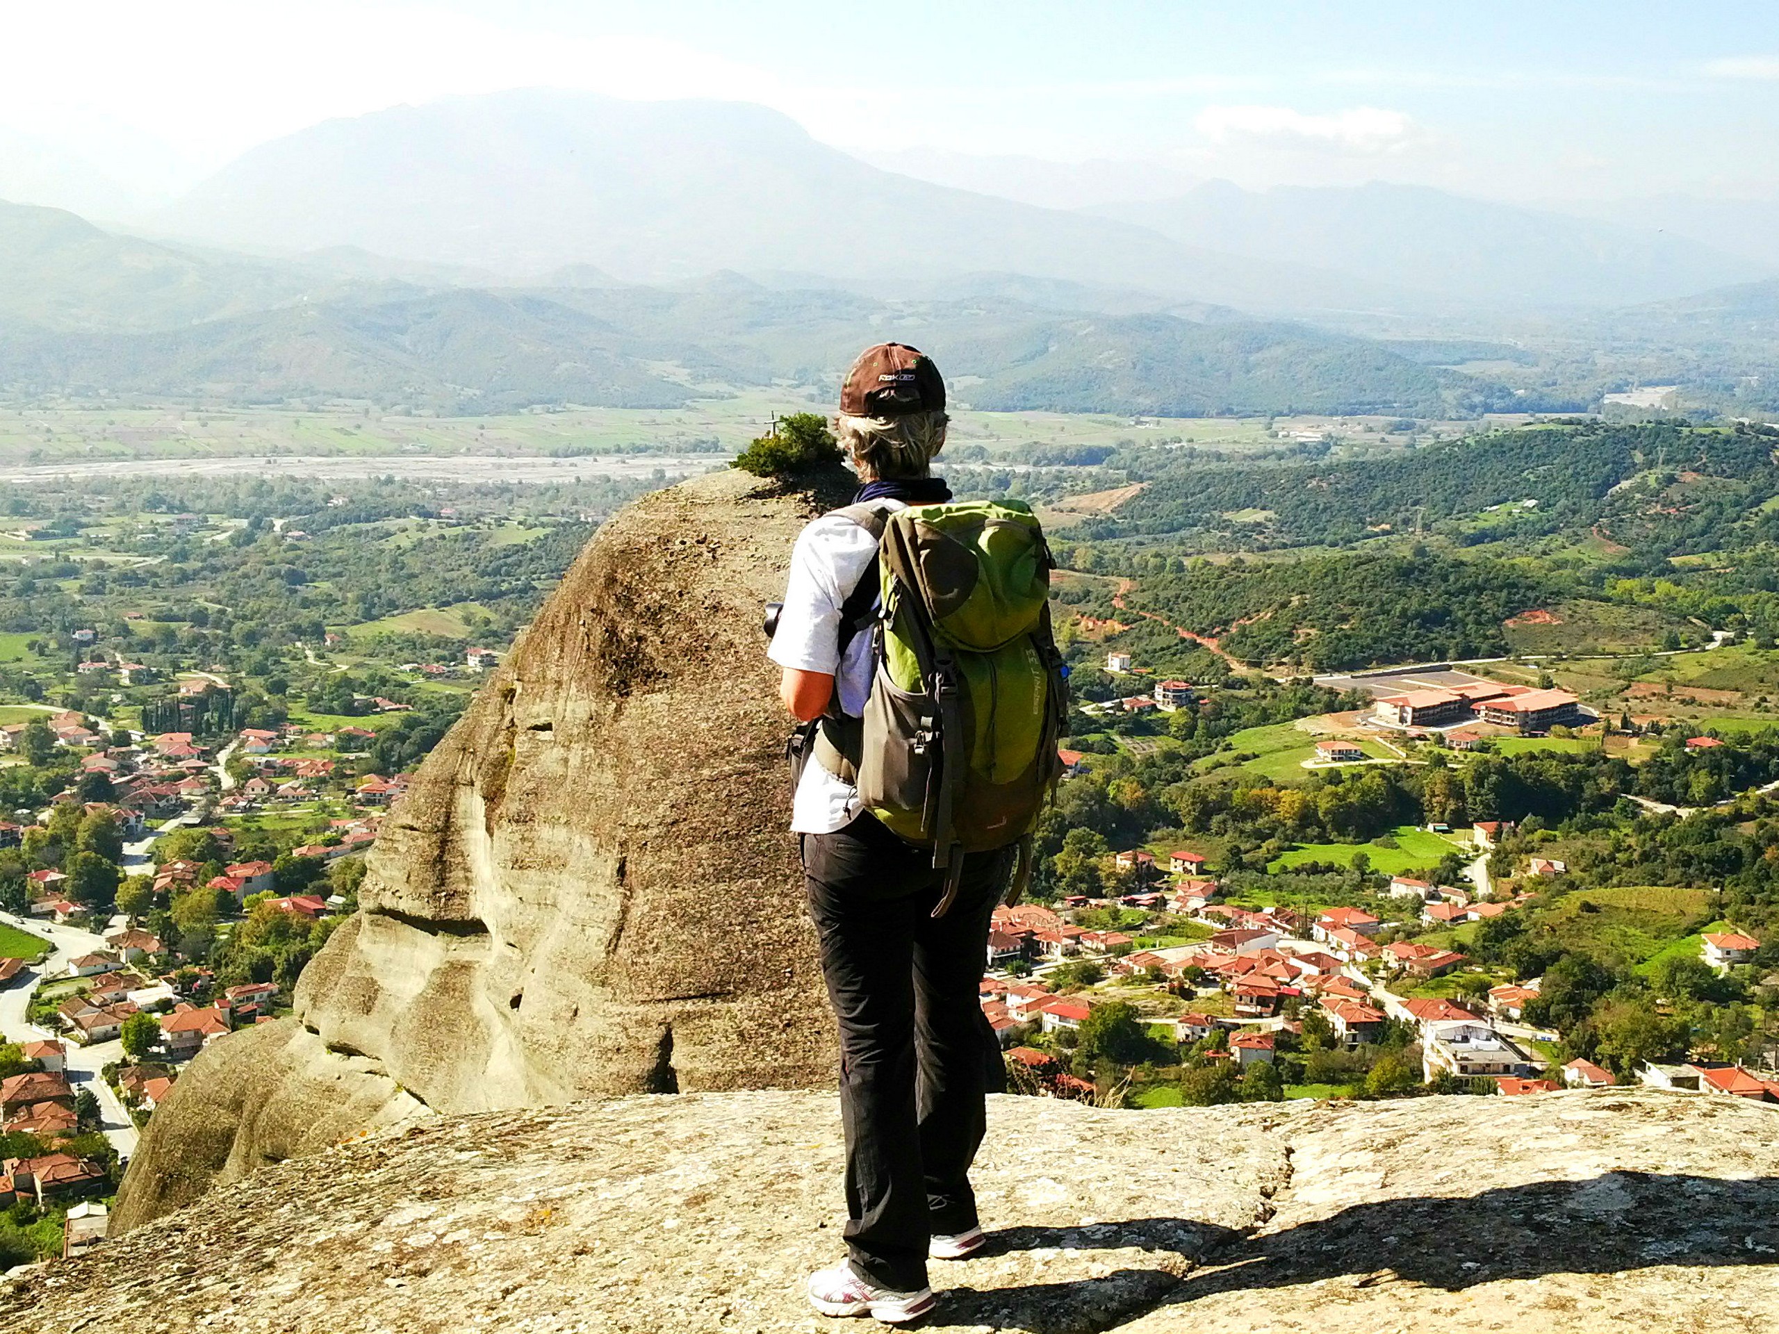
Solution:
<svg viewBox="0 0 1779 1334"><path fill-rule="evenodd" d="M950 503L930 473L945 430L929 358L859 354L834 434L863 486L797 537L770 646L806 724L792 831L840 1025L847 1142L849 1254L811 1275L809 1300L890 1323L932 1309L929 1258L984 1243L970 1165L1002 1069L978 1003L989 914L1016 863L1014 879L1028 870L1066 717L1037 521L1018 503Z"/></svg>

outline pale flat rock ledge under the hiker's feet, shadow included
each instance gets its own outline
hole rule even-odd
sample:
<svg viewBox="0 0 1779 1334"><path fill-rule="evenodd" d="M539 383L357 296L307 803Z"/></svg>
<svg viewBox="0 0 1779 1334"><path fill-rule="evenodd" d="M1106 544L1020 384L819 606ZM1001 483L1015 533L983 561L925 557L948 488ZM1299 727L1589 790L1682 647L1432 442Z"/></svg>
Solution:
<svg viewBox="0 0 1779 1334"><path fill-rule="evenodd" d="M157 1113L158 1115L158 1113ZM1779 1108L1603 1090L1098 1112L991 1101L991 1245L925 1329L1779 1329ZM0 1286L23 1334L815 1334L827 1094L432 1117Z"/></svg>

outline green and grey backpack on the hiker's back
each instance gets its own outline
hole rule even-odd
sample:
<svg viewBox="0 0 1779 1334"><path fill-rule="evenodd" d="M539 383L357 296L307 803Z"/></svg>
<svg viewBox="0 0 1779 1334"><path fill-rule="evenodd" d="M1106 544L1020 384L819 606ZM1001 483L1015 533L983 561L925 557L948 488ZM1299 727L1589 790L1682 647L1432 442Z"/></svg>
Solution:
<svg viewBox="0 0 1779 1334"><path fill-rule="evenodd" d="M1037 518L1021 502L840 512L879 535L879 598L857 598L879 601L866 612L875 676L863 719L838 706L822 719L815 756L891 831L932 848L946 870L934 916L950 909L966 852L1018 845L1016 898L1067 724Z"/></svg>

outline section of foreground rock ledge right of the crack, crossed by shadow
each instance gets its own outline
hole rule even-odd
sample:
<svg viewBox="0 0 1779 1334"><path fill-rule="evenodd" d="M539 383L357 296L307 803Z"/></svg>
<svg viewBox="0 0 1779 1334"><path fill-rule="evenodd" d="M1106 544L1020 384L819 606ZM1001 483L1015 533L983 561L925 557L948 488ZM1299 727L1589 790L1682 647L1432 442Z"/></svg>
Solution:
<svg viewBox="0 0 1779 1334"><path fill-rule="evenodd" d="M1290 1138L1277 1213L1128 1334L1779 1330L1779 1106L1411 1099Z"/></svg>

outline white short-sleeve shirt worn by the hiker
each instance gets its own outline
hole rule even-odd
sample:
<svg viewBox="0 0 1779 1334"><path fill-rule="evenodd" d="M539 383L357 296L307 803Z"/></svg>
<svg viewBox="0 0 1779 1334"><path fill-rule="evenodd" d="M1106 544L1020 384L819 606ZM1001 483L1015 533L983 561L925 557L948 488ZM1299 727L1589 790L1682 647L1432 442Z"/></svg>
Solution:
<svg viewBox="0 0 1779 1334"><path fill-rule="evenodd" d="M884 510L904 509L900 500L873 502ZM840 658L840 608L857 587L877 539L849 518L824 514L801 534L790 553L785 610L767 656L779 667L822 672L834 678L841 713L859 717L872 692L872 637L854 635ZM859 790L811 761L792 800L790 827L795 834L831 834L859 813Z"/></svg>

